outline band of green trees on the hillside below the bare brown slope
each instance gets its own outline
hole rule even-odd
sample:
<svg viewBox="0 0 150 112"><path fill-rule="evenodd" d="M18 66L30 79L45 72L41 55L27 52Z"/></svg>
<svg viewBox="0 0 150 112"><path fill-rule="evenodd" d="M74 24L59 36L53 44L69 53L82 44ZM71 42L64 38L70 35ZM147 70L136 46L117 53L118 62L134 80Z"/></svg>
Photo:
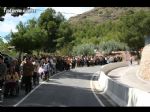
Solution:
<svg viewBox="0 0 150 112"><path fill-rule="evenodd" d="M132 11L122 14L116 20L103 23L80 22L73 25L75 45L115 40L126 43L131 50L138 51L144 46L145 37L150 37L149 11Z"/></svg>

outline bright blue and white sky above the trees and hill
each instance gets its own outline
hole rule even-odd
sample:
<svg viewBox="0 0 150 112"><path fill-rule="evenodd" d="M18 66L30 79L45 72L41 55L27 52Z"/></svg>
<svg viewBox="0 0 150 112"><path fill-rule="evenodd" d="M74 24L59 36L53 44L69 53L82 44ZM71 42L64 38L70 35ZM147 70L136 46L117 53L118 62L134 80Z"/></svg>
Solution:
<svg viewBox="0 0 150 112"><path fill-rule="evenodd" d="M5 37L12 30L17 32L16 25L22 21L23 23L32 18L38 18L42 12L44 12L48 7L31 7L30 11L26 12L23 16L13 17L10 13L5 15L5 20L0 21L0 37ZM64 17L68 20L70 17L82 14L86 11L93 9L94 7L51 7L56 12L61 12Z"/></svg>

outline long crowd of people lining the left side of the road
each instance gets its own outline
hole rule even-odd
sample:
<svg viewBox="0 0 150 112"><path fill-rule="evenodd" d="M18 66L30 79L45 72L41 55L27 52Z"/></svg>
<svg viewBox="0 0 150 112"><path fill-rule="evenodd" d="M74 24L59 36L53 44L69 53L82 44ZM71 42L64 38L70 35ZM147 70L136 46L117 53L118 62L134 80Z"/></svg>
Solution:
<svg viewBox="0 0 150 112"><path fill-rule="evenodd" d="M49 56L25 55L19 63L13 59L6 63L0 55L0 87L5 85L4 96L18 95L19 88L28 94L39 80L48 81L53 74L75 67L104 65L122 61L119 55L108 56Z"/></svg>

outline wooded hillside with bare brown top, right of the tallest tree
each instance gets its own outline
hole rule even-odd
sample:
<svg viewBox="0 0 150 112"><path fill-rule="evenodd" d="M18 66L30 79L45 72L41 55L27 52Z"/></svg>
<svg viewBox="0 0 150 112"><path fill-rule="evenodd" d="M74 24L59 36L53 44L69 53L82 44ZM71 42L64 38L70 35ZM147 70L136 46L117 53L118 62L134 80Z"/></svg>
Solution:
<svg viewBox="0 0 150 112"><path fill-rule="evenodd" d="M113 50L112 46L118 50L138 51L144 47L145 37L150 33L150 8L97 7L70 18L68 22L74 29L76 46L93 43L96 48L107 51ZM106 46L107 42L113 45Z"/></svg>

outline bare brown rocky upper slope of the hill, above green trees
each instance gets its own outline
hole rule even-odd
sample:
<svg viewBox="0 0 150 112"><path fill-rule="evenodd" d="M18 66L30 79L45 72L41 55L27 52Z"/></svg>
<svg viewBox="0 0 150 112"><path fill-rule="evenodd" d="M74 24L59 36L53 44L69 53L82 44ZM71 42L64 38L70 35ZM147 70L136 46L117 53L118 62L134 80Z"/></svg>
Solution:
<svg viewBox="0 0 150 112"><path fill-rule="evenodd" d="M95 23L100 23L108 19L115 20L123 14L133 13L139 10L150 11L150 7L96 7L83 14L71 17L69 22L77 24L79 22L89 20Z"/></svg>

